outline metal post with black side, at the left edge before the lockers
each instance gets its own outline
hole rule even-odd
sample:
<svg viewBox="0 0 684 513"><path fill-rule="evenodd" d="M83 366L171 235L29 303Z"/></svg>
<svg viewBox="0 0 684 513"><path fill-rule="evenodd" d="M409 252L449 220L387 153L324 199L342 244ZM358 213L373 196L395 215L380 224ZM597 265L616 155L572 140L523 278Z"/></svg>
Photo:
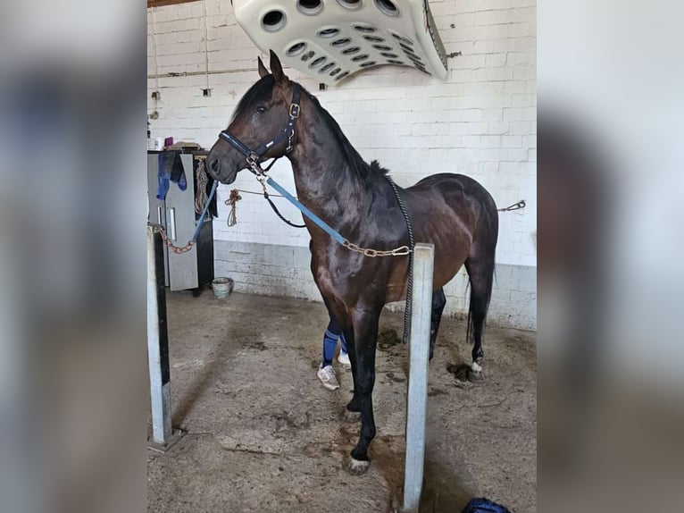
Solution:
<svg viewBox="0 0 684 513"><path fill-rule="evenodd" d="M171 370L166 325L162 237L147 226L147 356L152 402L152 442L171 440Z"/></svg>

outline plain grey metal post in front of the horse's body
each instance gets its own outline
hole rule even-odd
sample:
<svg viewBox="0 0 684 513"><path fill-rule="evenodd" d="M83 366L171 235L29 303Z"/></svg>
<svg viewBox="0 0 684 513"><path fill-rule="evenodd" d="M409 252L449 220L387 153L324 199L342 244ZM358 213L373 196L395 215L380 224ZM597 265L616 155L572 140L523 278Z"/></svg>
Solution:
<svg viewBox="0 0 684 513"><path fill-rule="evenodd" d="M409 339L404 478L404 511L406 513L418 511L421 503L434 251L433 244L419 243L415 245L413 253L413 300L411 302L411 338Z"/></svg>

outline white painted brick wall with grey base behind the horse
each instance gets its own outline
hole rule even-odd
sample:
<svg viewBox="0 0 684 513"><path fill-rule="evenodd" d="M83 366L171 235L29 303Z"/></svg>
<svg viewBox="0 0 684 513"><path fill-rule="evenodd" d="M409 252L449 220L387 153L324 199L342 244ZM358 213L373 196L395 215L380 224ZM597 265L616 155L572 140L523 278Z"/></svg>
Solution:
<svg viewBox="0 0 684 513"><path fill-rule="evenodd" d="M462 53L449 59L445 82L387 67L318 92L315 80L286 71L321 99L362 156L380 160L400 185L434 172L461 172L480 181L499 206L527 200L524 210L500 215L492 318L535 329L536 0L433 0L430 7L446 53ZM258 78L261 53L236 24L227 0L148 9L147 19L148 92L161 92L159 101L148 100L149 112L159 113L152 137L211 147ZM167 73L179 76L155 77ZM207 83L211 97L203 97ZM273 175L294 189L286 162ZM216 272L234 275L238 290L319 299L308 273L306 231L281 223L263 198L250 194L238 203L238 224L228 227L223 200L232 188L258 189L248 173L220 187ZM282 211L300 218L288 204ZM452 314L463 312L464 284L462 271L446 290Z"/></svg>

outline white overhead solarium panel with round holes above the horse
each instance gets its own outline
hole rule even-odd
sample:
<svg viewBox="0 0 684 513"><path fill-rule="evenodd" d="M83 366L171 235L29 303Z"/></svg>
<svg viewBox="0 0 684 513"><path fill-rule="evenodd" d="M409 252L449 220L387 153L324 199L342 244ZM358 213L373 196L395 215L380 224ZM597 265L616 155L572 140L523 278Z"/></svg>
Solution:
<svg viewBox="0 0 684 513"><path fill-rule="evenodd" d="M264 53L328 85L385 64L446 79L427 0L233 0L233 10Z"/></svg>

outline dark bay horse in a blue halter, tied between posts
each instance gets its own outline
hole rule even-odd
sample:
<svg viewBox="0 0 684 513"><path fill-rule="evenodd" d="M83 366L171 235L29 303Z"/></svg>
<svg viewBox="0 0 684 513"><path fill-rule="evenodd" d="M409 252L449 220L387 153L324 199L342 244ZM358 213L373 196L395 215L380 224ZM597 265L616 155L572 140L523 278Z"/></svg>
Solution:
<svg viewBox="0 0 684 513"><path fill-rule="evenodd" d="M433 174L398 188L388 170L363 160L316 97L289 80L272 51L270 59L271 72L258 59L260 80L239 100L228 129L207 156L210 175L229 184L243 169L256 172L259 162L287 156L299 201L364 248L388 250L409 243L397 205L403 200L415 240L435 247L430 347L446 304L443 287L465 265L471 290L466 339L473 343L471 370L479 373L498 237L494 199L480 183L460 174ZM249 149L254 147L259 151ZM405 298L409 256L371 257L339 244L308 217L304 224L311 235L313 280L346 337L354 378L346 408L360 412L361 430L344 467L361 475L370 465L368 449L376 433L371 395L380 313L387 303Z"/></svg>

